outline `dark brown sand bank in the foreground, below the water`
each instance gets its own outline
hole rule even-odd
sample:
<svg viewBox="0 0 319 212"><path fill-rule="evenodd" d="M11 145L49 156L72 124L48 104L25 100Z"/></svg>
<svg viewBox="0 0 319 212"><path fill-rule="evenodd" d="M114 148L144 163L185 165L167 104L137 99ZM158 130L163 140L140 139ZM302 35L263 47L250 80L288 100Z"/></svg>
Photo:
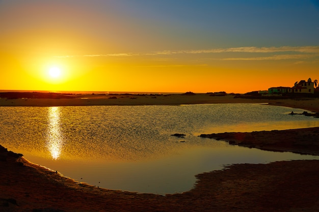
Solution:
<svg viewBox="0 0 319 212"><path fill-rule="evenodd" d="M0 211L319 210L316 160L231 165L198 174L189 192L161 196L78 184L4 149L0 156Z"/></svg>

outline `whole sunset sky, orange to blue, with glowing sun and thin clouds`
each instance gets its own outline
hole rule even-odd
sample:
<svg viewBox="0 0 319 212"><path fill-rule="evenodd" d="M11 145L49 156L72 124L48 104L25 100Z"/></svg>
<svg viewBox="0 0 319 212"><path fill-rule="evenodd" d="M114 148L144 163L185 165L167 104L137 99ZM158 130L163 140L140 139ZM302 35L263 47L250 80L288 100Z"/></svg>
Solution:
<svg viewBox="0 0 319 212"><path fill-rule="evenodd" d="M319 79L319 0L0 0L0 70L1 90L291 87Z"/></svg>

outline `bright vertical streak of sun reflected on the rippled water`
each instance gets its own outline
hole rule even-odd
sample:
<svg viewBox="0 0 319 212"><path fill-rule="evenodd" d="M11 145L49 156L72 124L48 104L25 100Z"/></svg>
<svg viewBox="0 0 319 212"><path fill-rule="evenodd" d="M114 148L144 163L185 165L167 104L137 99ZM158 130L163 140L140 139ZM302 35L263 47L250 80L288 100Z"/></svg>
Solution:
<svg viewBox="0 0 319 212"><path fill-rule="evenodd" d="M61 130L60 130L60 108L49 107L46 146L53 159L55 160L59 159L61 155L62 145L63 145L63 139L62 139Z"/></svg>

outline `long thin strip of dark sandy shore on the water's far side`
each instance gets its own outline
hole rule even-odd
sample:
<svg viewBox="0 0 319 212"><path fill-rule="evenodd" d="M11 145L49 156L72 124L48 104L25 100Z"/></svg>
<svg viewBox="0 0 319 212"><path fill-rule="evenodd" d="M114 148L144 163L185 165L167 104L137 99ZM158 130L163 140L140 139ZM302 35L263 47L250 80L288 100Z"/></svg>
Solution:
<svg viewBox="0 0 319 212"><path fill-rule="evenodd" d="M32 94L32 93L31 93ZM235 95L214 96L212 94L56 94L39 98L1 98L0 107L52 107L52 106L135 106L135 105L183 105L183 104L227 104L227 103L256 103L300 108L319 112L319 98L296 99L249 99L234 98ZM29 96L29 95L28 95ZM48 98L50 97L50 98Z"/></svg>

